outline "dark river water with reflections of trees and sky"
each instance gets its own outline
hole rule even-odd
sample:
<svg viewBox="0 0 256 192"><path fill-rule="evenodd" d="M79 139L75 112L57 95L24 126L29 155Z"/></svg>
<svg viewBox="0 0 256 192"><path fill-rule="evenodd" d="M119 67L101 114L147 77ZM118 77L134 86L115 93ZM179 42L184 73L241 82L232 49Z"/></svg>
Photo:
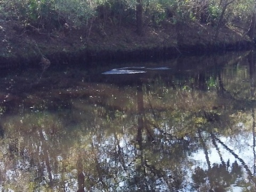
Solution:
<svg viewBox="0 0 256 192"><path fill-rule="evenodd" d="M0 191L255 191L255 60L2 71Z"/></svg>

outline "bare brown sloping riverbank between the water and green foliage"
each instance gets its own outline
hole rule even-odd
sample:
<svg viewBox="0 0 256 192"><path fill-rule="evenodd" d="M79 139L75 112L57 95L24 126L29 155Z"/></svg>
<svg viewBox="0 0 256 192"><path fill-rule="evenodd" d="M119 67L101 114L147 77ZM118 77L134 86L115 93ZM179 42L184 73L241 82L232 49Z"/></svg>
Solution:
<svg viewBox="0 0 256 192"><path fill-rule="evenodd" d="M220 29L196 22L145 26L138 36L136 27L105 26L86 29L68 28L46 34L37 30L19 30L15 24L1 22L0 68L39 66L44 55L51 65L90 64L98 61L149 60L187 54L209 54L249 49L253 41L239 27ZM99 26L99 25L97 25Z"/></svg>

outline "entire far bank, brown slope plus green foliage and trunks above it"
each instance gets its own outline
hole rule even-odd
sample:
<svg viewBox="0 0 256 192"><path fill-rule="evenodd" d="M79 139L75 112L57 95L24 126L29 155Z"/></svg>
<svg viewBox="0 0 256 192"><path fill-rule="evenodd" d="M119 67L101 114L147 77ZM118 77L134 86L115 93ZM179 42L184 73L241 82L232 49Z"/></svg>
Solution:
<svg viewBox="0 0 256 192"><path fill-rule="evenodd" d="M2 0L0 67L248 48L255 7L252 0Z"/></svg>

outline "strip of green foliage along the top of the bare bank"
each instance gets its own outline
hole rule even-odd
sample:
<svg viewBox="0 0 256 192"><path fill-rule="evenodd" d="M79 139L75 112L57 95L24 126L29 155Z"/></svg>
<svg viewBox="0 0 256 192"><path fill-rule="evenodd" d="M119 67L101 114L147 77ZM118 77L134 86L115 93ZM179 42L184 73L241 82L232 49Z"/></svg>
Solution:
<svg viewBox="0 0 256 192"><path fill-rule="evenodd" d="M174 24L199 21L217 26L223 8L218 0L143 0L142 3L143 22L156 27L164 21ZM66 26L91 28L97 21L99 28L101 21L120 26L135 23L136 4L136 0L3 0L0 20L15 21L26 30L46 32ZM248 25L254 4L253 0L229 4L221 24L239 21Z"/></svg>

